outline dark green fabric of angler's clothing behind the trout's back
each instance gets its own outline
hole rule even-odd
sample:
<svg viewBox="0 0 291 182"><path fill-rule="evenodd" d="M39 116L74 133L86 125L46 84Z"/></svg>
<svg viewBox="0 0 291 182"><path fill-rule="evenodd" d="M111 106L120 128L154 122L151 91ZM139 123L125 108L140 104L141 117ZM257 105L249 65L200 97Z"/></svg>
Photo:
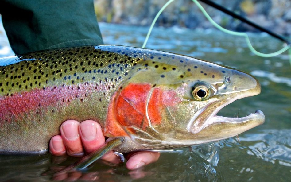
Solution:
<svg viewBox="0 0 291 182"><path fill-rule="evenodd" d="M103 44L93 0L1 0L0 14L17 55Z"/></svg>

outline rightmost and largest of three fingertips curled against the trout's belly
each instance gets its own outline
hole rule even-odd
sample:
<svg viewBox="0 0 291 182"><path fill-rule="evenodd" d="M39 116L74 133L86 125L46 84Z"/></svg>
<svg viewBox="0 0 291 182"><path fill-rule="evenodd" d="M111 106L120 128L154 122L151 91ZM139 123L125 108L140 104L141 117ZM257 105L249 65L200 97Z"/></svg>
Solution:
<svg viewBox="0 0 291 182"><path fill-rule="evenodd" d="M87 153L91 153L105 144L101 126L95 121L86 120L81 122L79 133Z"/></svg>

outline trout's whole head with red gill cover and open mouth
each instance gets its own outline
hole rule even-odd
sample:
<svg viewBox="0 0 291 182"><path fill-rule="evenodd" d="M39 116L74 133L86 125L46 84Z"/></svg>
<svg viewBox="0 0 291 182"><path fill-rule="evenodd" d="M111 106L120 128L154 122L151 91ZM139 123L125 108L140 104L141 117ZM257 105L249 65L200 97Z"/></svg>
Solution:
<svg viewBox="0 0 291 182"><path fill-rule="evenodd" d="M261 92L253 76L186 56L151 57L133 68L113 106L115 120L142 149L219 141L265 121L259 110L241 118L216 115L235 100Z"/></svg>

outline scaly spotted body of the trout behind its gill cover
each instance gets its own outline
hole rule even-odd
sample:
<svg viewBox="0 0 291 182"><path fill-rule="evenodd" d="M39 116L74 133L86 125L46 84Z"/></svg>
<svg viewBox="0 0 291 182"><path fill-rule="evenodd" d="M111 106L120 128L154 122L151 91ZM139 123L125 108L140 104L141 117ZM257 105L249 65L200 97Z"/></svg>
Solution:
<svg viewBox="0 0 291 182"><path fill-rule="evenodd" d="M79 56L80 54L82 56ZM122 79L128 77L127 71L138 61L138 58L131 58L125 52L117 54L95 47L42 51L22 55L18 59L22 61L0 67L0 101L6 103L1 106L0 124L2 129L13 131L10 135L1 134L0 150L10 147L14 150L17 148L16 143L15 147L7 145L10 145L11 141L18 143L19 140L24 139L22 141L27 142L24 142L21 148L30 148L31 152L35 150L35 142L38 139L31 142L29 137L39 137L40 142L45 144L42 144L43 148L37 150L45 150L51 136L43 140L41 135L32 136L29 134L30 126L35 129L41 127L43 121L53 120L51 125L44 122L46 124L42 127L48 128L47 132L53 131L53 134L58 134L56 131L60 124L69 118L80 121L90 118L103 121L106 117L110 95ZM36 90L38 93L29 95ZM59 93L61 96L55 96L55 92L61 92ZM34 99L36 95L42 95L43 98ZM28 97L28 100L22 99L22 102L19 102L21 96ZM94 102L86 104L93 98ZM12 104L15 107L12 107ZM61 108L63 106L65 109ZM95 112L88 112L89 108L93 108ZM81 113L83 116L79 117ZM17 117L19 115L20 117ZM28 133L22 134L21 139L17 138L14 135L18 131L14 128L27 130ZM25 138L28 139L25 140ZM5 140L10 141L5 142Z"/></svg>

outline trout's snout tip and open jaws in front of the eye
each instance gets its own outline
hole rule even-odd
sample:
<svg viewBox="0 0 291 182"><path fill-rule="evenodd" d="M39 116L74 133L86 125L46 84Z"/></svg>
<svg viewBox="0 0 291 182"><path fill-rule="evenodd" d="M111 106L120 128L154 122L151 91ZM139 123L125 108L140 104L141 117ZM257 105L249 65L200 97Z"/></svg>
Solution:
<svg viewBox="0 0 291 182"><path fill-rule="evenodd" d="M255 126L265 122L262 111L257 110L245 117L223 117L216 115L224 106L237 99L258 95L261 86L257 79L244 72L232 70L231 77L226 76L228 81L218 88L215 96L219 98L198 110L187 125L187 130L193 135L204 135L204 132L211 133L215 137L206 137L211 141L218 141L224 138L233 137Z"/></svg>

